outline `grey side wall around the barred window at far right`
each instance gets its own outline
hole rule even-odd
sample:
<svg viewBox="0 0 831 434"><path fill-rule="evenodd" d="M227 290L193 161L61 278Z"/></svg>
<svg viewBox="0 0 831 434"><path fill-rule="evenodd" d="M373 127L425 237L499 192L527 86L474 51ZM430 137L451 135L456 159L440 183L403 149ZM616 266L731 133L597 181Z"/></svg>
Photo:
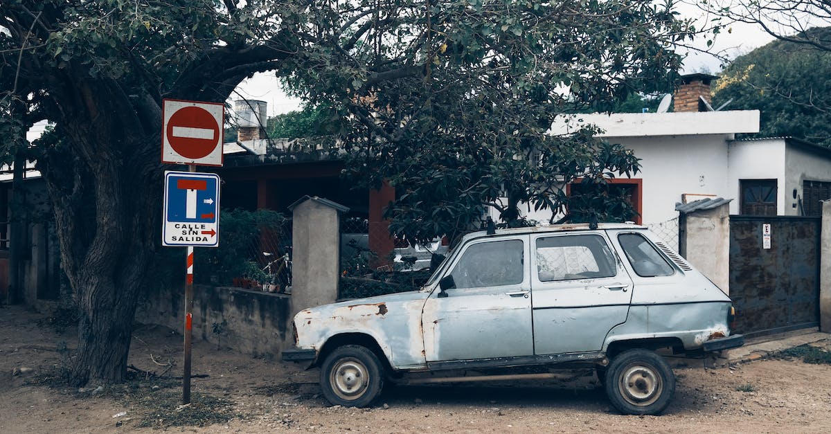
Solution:
<svg viewBox="0 0 831 434"><path fill-rule="evenodd" d="M800 215L797 200L804 198L802 181L831 181L831 159L809 147L789 145L785 149L784 215ZM794 190L797 199L794 199Z"/></svg>

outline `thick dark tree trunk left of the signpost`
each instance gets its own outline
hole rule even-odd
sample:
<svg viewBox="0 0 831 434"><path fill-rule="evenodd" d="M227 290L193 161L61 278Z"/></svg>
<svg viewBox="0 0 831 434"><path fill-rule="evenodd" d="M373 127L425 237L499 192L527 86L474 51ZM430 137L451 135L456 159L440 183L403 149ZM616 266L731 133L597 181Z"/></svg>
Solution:
<svg viewBox="0 0 831 434"><path fill-rule="evenodd" d="M122 382L136 304L160 238L160 101L140 105L108 81L67 89L60 101L67 119L39 163L80 315L70 382Z"/></svg>

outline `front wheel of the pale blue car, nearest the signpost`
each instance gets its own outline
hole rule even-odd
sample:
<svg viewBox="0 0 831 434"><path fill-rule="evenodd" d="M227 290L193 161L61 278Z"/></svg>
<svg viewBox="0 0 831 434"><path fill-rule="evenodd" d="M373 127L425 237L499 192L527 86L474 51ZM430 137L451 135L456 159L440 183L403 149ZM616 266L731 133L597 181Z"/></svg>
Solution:
<svg viewBox="0 0 831 434"><path fill-rule="evenodd" d="M381 395L384 369L368 348L345 345L323 361L320 386L323 397L332 405L366 407Z"/></svg>

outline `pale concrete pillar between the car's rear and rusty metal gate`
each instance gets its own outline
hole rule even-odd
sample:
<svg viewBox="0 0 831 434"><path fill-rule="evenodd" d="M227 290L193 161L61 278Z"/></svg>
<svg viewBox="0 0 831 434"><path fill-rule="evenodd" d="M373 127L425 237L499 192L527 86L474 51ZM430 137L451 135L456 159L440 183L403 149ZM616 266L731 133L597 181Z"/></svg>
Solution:
<svg viewBox="0 0 831 434"><path fill-rule="evenodd" d="M685 258L714 284L730 294L730 207L694 211L682 220Z"/></svg>

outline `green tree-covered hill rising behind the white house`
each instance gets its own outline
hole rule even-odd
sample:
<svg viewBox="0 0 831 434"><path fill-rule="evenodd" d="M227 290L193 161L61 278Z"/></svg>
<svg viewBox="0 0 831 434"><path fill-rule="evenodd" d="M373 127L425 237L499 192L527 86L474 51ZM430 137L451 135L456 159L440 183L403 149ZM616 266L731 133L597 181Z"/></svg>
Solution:
<svg viewBox="0 0 831 434"><path fill-rule="evenodd" d="M805 37L831 37L831 27ZM722 72L713 104L761 111L761 136L794 136L831 145L831 52L797 42L774 41L737 57Z"/></svg>

